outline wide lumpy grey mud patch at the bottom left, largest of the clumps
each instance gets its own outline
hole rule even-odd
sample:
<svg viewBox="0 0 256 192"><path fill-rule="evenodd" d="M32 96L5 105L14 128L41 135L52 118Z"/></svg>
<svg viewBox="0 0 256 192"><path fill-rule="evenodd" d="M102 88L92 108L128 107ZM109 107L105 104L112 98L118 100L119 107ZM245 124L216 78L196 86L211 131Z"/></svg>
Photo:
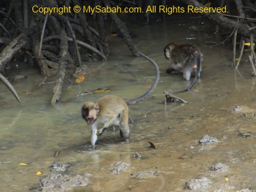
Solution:
<svg viewBox="0 0 256 192"><path fill-rule="evenodd" d="M53 174L41 180L41 188L39 191L69 191L74 188L87 186L90 181L90 174L84 173L84 175L69 176Z"/></svg>

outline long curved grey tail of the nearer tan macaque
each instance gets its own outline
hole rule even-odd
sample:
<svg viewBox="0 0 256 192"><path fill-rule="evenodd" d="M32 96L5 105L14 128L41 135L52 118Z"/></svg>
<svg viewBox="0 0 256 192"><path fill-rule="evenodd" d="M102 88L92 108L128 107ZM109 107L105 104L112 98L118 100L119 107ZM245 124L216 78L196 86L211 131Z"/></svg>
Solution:
<svg viewBox="0 0 256 192"><path fill-rule="evenodd" d="M148 95L150 95L150 94L155 90L155 87L157 87L157 84L158 84L158 82L159 82L159 76L160 76L159 74L160 74L160 72L159 72L159 67L158 67L157 63L156 63L153 59L151 59L150 57L147 57L147 55L142 54L142 52L139 52L139 54L140 54L142 57L144 57L145 59L149 60L149 62L152 63L152 65L154 65L154 67L155 67L155 82L154 82L154 84L150 87L150 89L149 89L147 92L145 92L145 94L143 94L143 95L141 95L140 97L137 97L137 98L132 98L132 99L126 100L126 103L127 103L128 105L137 103L137 102L139 102L140 100L143 100L143 99L144 99L145 97L147 97ZM199 71L200 71L200 70L199 70Z"/></svg>

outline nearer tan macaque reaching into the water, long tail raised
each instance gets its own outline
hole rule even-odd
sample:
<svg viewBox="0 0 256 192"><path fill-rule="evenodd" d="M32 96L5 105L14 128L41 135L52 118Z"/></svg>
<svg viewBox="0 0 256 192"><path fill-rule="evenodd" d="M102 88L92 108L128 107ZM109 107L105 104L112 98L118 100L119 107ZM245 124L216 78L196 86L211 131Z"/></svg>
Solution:
<svg viewBox="0 0 256 192"><path fill-rule="evenodd" d="M104 130L111 125L119 125L120 136L124 140L129 140L130 128L128 125L129 108L127 104L134 104L147 97L159 82L159 68L154 60L139 52L145 59L149 60L155 67L155 82L145 94L130 100L123 100L115 95L106 95L96 102L86 102L82 106L82 118L91 125L91 145L94 148L97 138ZM103 123L103 127L97 130L97 125Z"/></svg>

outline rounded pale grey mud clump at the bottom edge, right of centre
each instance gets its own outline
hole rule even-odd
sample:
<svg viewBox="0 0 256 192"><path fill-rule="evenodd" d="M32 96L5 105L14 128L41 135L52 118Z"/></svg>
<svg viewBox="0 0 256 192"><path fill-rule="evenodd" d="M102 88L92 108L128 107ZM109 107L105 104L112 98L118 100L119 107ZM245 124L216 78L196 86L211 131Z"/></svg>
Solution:
<svg viewBox="0 0 256 192"><path fill-rule="evenodd" d="M189 190L199 190L199 189L205 189L208 188L209 185L212 183L209 178L202 176L199 178L194 178L185 183L184 188Z"/></svg>

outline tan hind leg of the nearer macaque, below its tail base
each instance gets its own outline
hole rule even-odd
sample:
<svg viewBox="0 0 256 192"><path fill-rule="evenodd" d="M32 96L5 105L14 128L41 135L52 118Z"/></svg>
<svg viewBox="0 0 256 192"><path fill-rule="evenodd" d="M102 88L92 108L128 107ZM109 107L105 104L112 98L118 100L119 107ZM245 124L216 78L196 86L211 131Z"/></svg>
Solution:
<svg viewBox="0 0 256 192"><path fill-rule="evenodd" d="M128 125L128 107L127 110L123 110L123 112L120 115L120 136L124 140L129 140L130 138L130 128Z"/></svg>

